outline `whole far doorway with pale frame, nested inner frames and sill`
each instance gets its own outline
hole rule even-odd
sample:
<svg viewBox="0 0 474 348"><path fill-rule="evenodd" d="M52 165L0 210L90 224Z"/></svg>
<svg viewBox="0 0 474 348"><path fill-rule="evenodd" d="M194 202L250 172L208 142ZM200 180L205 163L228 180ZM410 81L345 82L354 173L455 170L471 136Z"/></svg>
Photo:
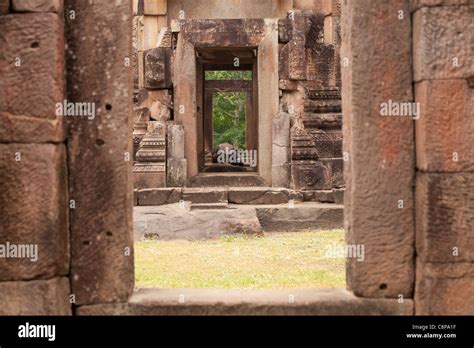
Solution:
<svg viewBox="0 0 474 348"><path fill-rule="evenodd" d="M182 111L175 114L175 123L184 129L186 186L208 186L207 181L218 186L224 179L224 186L244 181L246 186L272 186L272 122L279 105L277 20L181 20L175 56L174 105ZM206 72L212 71L247 71L252 77L207 82ZM241 147L258 151L254 166L212 164L219 145L213 144L212 99L223 92L246 94ZM231 172L216 173L223 168Z"/></svg>

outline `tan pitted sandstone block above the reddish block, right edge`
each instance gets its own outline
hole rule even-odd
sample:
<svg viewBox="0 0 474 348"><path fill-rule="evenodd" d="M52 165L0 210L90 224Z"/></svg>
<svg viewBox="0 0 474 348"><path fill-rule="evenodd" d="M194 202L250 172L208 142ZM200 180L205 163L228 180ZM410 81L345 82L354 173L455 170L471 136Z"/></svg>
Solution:
<svg viewBox="0 0 474 348"><path fill-rule="evenodd" d="M474 75L474 6L423 7L413 16L415 81Z"/></svg>

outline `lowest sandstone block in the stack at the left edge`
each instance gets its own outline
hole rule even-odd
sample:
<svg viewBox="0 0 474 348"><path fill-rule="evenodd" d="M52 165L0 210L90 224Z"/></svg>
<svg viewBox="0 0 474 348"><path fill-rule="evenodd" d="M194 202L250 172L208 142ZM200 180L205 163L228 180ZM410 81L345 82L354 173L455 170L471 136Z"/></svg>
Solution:
<svg viewBox="0 0 474 348"><path fill-rule="evenodd" d="M0 282L0 315L72 315L69 279Z"/></svg>

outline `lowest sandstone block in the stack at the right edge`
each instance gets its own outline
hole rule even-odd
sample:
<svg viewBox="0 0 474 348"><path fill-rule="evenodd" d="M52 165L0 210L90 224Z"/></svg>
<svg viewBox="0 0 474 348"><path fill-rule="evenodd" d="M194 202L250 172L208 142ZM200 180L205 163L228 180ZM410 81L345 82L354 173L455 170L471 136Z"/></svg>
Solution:
<svg viewBox="0 0 474 348"><path fill-rule="evenodd" d="M474 264L418 259L416 315L474 315Z"/></svg>

